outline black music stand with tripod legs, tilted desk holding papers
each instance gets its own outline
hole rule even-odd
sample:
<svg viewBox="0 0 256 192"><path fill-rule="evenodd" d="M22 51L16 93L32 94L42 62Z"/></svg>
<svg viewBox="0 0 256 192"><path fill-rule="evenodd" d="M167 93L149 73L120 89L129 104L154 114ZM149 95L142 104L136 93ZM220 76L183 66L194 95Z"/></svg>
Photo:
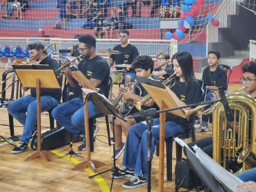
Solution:
<svg viewBox="0 0 256 192"><path fill-rule="evenodd" d="M114 153L114 157L115 157L114 119L116 119L118 117L119 119L122 119L123 121L128 121L128 120L125 119L116 108L114 108L114 106L110 103L110 101L108 101L108 98L105 98L105 96L98 94L96 92L92 92L92 93L89 93L86 95L86 99L89 99L89 101L92 102L92 104L94 105L96 110L98 110L98 112L100 112L102 114L112 114L114 116L113 120L111 122L113 125L113 137L110 139L113 142L113 144L112 144L113 145L113 153ZM89 176L89 178L95 177L97 175L101 175L102 173L107 173L108 171L111 171L113 173L118 173L119 168L117 168L117 166L116 166L115 158L114 158L114 166L112 166L112 168L108 169L107 171L98 173L96 175ZM114 177L112 177L110 191L112 191L113 180L114 180Z"/></svg>

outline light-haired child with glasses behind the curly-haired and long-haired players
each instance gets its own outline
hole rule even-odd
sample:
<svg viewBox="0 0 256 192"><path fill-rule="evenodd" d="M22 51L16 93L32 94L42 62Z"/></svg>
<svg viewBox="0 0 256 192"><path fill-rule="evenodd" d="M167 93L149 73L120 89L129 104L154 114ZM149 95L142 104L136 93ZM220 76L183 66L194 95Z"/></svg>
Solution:
<svg viewBox="0 0 256 192"><path fill-rule="evenodd" d="M167 79L173 73L173 67L168 64L170 60L170 54L167 51L161 51L157 53L157 63L159 67L155 67L153 75L157 78Z"/></svg>

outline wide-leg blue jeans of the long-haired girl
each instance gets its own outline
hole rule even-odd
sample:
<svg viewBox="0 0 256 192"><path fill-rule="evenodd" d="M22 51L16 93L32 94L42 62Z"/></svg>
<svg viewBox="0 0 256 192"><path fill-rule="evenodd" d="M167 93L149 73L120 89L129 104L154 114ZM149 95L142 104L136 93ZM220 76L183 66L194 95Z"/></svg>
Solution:
<svg viewBox="0 0 256 192"><path fill-rule="evenodd" d="M135 168L135 175L148 177L148 147L147 147L148 125L137 123L130 127L126 138L126 148L123 154L122 166ZM176 134L185 133L180 125L172 121L165 123L165 139ZM154 119L152 124L151 161L155 152L155 145L160 142L160 121Z"/></svg>

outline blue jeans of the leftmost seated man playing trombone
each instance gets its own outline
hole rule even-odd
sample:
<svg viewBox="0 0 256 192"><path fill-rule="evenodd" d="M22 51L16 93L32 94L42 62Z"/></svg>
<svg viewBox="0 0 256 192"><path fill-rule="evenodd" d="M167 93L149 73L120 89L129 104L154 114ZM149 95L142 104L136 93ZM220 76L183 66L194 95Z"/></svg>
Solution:
<svg viewBox="0 0 256 192"><path fill-rule="evenodd" d="M40 99L41 112L51 110L59 104L56 98L51 96L41 96ZM28 144L37 123L37 98L31 95L18 98L8 105L7 110L11 116L24 125L20 140Z"/></svg>

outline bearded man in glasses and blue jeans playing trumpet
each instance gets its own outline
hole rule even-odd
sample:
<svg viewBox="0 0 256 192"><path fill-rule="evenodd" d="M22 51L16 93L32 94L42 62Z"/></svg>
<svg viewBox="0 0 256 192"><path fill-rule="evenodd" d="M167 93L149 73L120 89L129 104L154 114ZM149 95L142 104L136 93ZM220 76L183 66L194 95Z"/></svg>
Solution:
<svg viewBox="0 0 256 192"><path fill-rule="evenodd" d="M99 93L108 97L108 80L110 76L110 67L108 62L96 53L96 39L89 34L80 35L78 38L78 51L82 55L82 61L78 64L78 69L86 76L89 82L100 89ZM73 78L69 67L62 69L62 73L67 77L71 87L76 87L78 82ZM88 101L89 119L96 116L99 112ZM62 103L56 107L52 116L69 132L81 137L82 145L78 150L85 150L85 118L83 110L83 96L74 98L71 101Z"/></svg>

